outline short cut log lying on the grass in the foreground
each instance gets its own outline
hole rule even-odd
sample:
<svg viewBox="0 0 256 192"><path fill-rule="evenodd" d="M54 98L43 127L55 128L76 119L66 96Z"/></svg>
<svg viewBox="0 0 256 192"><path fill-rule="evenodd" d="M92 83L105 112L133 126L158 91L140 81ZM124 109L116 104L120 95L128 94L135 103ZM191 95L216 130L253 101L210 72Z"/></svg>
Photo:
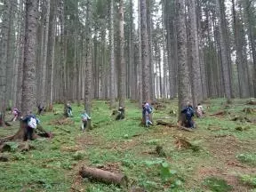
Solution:
<svg viewBox="0 0 256 192"><path fill-rule="evenodd" d="M128 186L128 179L124 174L107 172L97 168L82 167L79 174L83 178L89 178L91 180L97 180L107 184L115 184L120 187Z"/></svg>

